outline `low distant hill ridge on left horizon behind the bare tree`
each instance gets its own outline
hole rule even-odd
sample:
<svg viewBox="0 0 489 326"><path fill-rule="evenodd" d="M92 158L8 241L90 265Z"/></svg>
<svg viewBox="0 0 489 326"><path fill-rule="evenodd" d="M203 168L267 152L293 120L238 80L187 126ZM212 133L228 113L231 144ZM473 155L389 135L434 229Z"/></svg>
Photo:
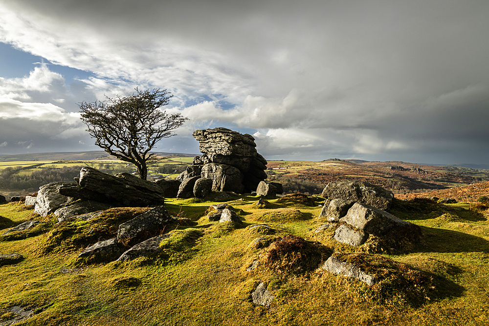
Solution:
<svg viewBox="0 0 489 326"><path fill-rule="evenodd" d="M178 156L178 157L193 157L198 154L186 153L167 153L155 152L161 156ZM88 152L51 152L51 153L32 153L32 154L15 154L15 155L0 155L0 161L49 161L49 160L96 160L96 159L116 159L104 151L88 151Z"/></svg>

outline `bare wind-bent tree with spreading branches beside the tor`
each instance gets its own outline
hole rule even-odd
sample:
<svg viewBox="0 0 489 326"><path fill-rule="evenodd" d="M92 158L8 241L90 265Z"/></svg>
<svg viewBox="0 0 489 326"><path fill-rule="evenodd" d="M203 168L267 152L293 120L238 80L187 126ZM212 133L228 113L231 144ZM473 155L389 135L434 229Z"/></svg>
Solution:
<svg viewBox="0 0 489 326"><path fill-rule="evenodd" d="M161 138L176 135L173 130L188 118L159 109L173 97L166 89L135 90L129 96L106 96L107 101L82 102L78 106L95 145L133 163L139 177L146 180L147 164L158 161L158 156L150 151Z"/></svg>

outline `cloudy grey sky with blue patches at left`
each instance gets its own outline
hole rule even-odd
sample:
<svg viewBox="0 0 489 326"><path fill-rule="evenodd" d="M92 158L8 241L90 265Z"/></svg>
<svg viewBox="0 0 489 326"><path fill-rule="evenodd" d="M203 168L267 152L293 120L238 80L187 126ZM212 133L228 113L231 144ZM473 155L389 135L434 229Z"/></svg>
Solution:
<svg viewBox="0 0 489 326"><path fill-rule="evenodd" d="M100 150L78 104L168 89L268 160L489 161L487 0L0 0L0 154Z"/></svg>

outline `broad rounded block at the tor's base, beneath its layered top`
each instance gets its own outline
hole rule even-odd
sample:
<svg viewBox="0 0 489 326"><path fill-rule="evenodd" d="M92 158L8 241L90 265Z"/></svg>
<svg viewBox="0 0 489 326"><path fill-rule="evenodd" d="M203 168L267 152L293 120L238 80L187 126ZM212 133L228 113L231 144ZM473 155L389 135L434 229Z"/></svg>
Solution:
<svg viewBox="0 0 489 326"><path fill-rule="evenodd" d="M242 193L244 186L243 174L231 165L207 163L202 167L202 178L212 179L212 191L234 191Z"/></svg>

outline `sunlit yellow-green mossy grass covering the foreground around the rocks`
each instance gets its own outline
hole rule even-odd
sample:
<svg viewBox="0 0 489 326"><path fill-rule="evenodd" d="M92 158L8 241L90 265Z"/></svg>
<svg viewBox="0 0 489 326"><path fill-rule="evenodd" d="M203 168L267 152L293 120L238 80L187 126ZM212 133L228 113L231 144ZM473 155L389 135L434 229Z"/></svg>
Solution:
<svg viewBox="0 0 489 326"><path fill-rule="evenodd" d="M317 218L321 207L281 204L273 199L268 200L272 208L260 209L254 206L257 200L244 196L228 202L243 220L242 225L234 225L208 220L206 211L215 203L212 196L199 201L169 198L166 207L182 223L174 225L170 230L174 235L160 243L165 254L151 259L76 264L77 254L85 246L95 238L111 236L110 225L134 212L124 213L125 217L122 212L114 213L92 223L49 224L48 232L0 241L0 253L24 256L17 264L0 267L0 323L12 318L7 308L14 305L35 309L32 318L19 324L22 326L489 323L487 211L470 210L467 204L400 202L392 212L419 225L423 240L410 253L375 255L375 261L368 261L372 256L336 243L333 229L314 233L323 222ZM267 212L281 213L264 221ZM33 217L32 210L22 203L0 205L0 216L4 217L0 223L7 223L0 224L2 230ZM251 228L255 224L266 224L273 231ZM54 234L65 228L69 229L65 236L56 238ZM270 245L253 246L258 238ZM267 257L277 248L274 243L278 238L295 239L298 244L277 256L280 263L275 268L267 264ZM53 243L53 239L59 241ZM377 266L376 271L386 280L383 287L376 292L356 280L323 271L320 266L326 257L308 254L317 252L311 249L313 245L324 248L326 256L348 252L350 259L360 257ZM46 252L45 248L52 250ZM307 258L307 268L293 267L297 257ZM255 260L258 267L247 271ZM293 272L288 272L287 261ZM406 283L402 277L412 282ZM421 284L423 277L430 286L407 291L409 284ZM268 307L250 301L259 282L267 283L275 296Z"/></svg>

